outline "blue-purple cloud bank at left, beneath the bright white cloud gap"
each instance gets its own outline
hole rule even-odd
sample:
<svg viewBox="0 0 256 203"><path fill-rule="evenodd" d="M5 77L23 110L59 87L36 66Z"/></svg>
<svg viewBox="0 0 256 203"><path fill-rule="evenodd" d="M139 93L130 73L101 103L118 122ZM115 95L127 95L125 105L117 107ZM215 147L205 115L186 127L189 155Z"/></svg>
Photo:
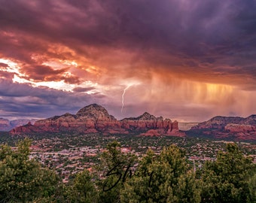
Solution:
<svg viewBox="0 0 256 203"><path fill-rule="evenodd" d="M49 117L66 112L75 114L102 95L77 95L47 87L32 87L0 79L0 117Z"/></svg>

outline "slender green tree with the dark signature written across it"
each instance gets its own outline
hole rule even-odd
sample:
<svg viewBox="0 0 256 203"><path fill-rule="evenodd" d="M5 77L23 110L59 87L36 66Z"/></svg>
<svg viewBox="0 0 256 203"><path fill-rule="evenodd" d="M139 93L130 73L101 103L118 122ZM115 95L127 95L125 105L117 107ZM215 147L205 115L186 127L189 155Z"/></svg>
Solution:
<svg viewBox="0 0 256 203"><path fill-rule="evenodd" d="M99 181L100 202L120 202L120 189L130 178L136 156L132 153L122 153L120 143L113 141L102 153L99 171L103 171L103 179Z"/></svg>

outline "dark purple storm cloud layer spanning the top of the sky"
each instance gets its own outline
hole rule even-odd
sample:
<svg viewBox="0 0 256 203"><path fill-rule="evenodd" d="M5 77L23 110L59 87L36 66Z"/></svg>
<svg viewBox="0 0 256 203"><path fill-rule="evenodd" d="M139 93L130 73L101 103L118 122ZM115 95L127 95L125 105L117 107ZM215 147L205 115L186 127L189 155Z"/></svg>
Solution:
<svg viewBox="0 0 256 203"><path fill-rule="evenodd" d="M65 41L80 51L81 46L133 50L168 69L183 65L188 71L212 73L211 67L200 64L221 64L223 72L228 72L226 65L256 65L255 9L254 1L242 0L20 0L3 1L0 23L9 32Z"/></svg>

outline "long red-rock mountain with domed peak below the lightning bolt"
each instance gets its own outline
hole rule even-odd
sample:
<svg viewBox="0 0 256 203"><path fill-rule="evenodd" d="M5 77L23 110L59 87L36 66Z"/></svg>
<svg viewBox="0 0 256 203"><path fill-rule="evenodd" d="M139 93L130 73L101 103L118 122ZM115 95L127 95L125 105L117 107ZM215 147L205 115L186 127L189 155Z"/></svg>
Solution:
<svg viewBox="0 0 256 203"><path fill-rule="evenodd" d="M139 117L117 120L101 105L88 105L78 111L77 114L63 114L38 120L34 125L28 123L11 130L12 135L29 134L35 132L67 132L76 131L84 133L100 132L103 134L128 134L139 133L141 135L176 135L184 136L178 130L178 122L163 117L154 117L145 112Z"/></svg>

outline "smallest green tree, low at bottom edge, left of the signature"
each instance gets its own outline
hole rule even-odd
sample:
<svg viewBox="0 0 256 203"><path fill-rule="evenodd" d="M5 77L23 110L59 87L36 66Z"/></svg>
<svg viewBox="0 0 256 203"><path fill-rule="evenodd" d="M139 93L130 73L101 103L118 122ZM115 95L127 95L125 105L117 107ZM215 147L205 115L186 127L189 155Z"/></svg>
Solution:
<svg viewBox="0 0 256 203"><path fill-rule="evenodd" d="M92 178L87 169L75 175L75 179L68 188L69 202L97 202L98 193Z"/></svg>

